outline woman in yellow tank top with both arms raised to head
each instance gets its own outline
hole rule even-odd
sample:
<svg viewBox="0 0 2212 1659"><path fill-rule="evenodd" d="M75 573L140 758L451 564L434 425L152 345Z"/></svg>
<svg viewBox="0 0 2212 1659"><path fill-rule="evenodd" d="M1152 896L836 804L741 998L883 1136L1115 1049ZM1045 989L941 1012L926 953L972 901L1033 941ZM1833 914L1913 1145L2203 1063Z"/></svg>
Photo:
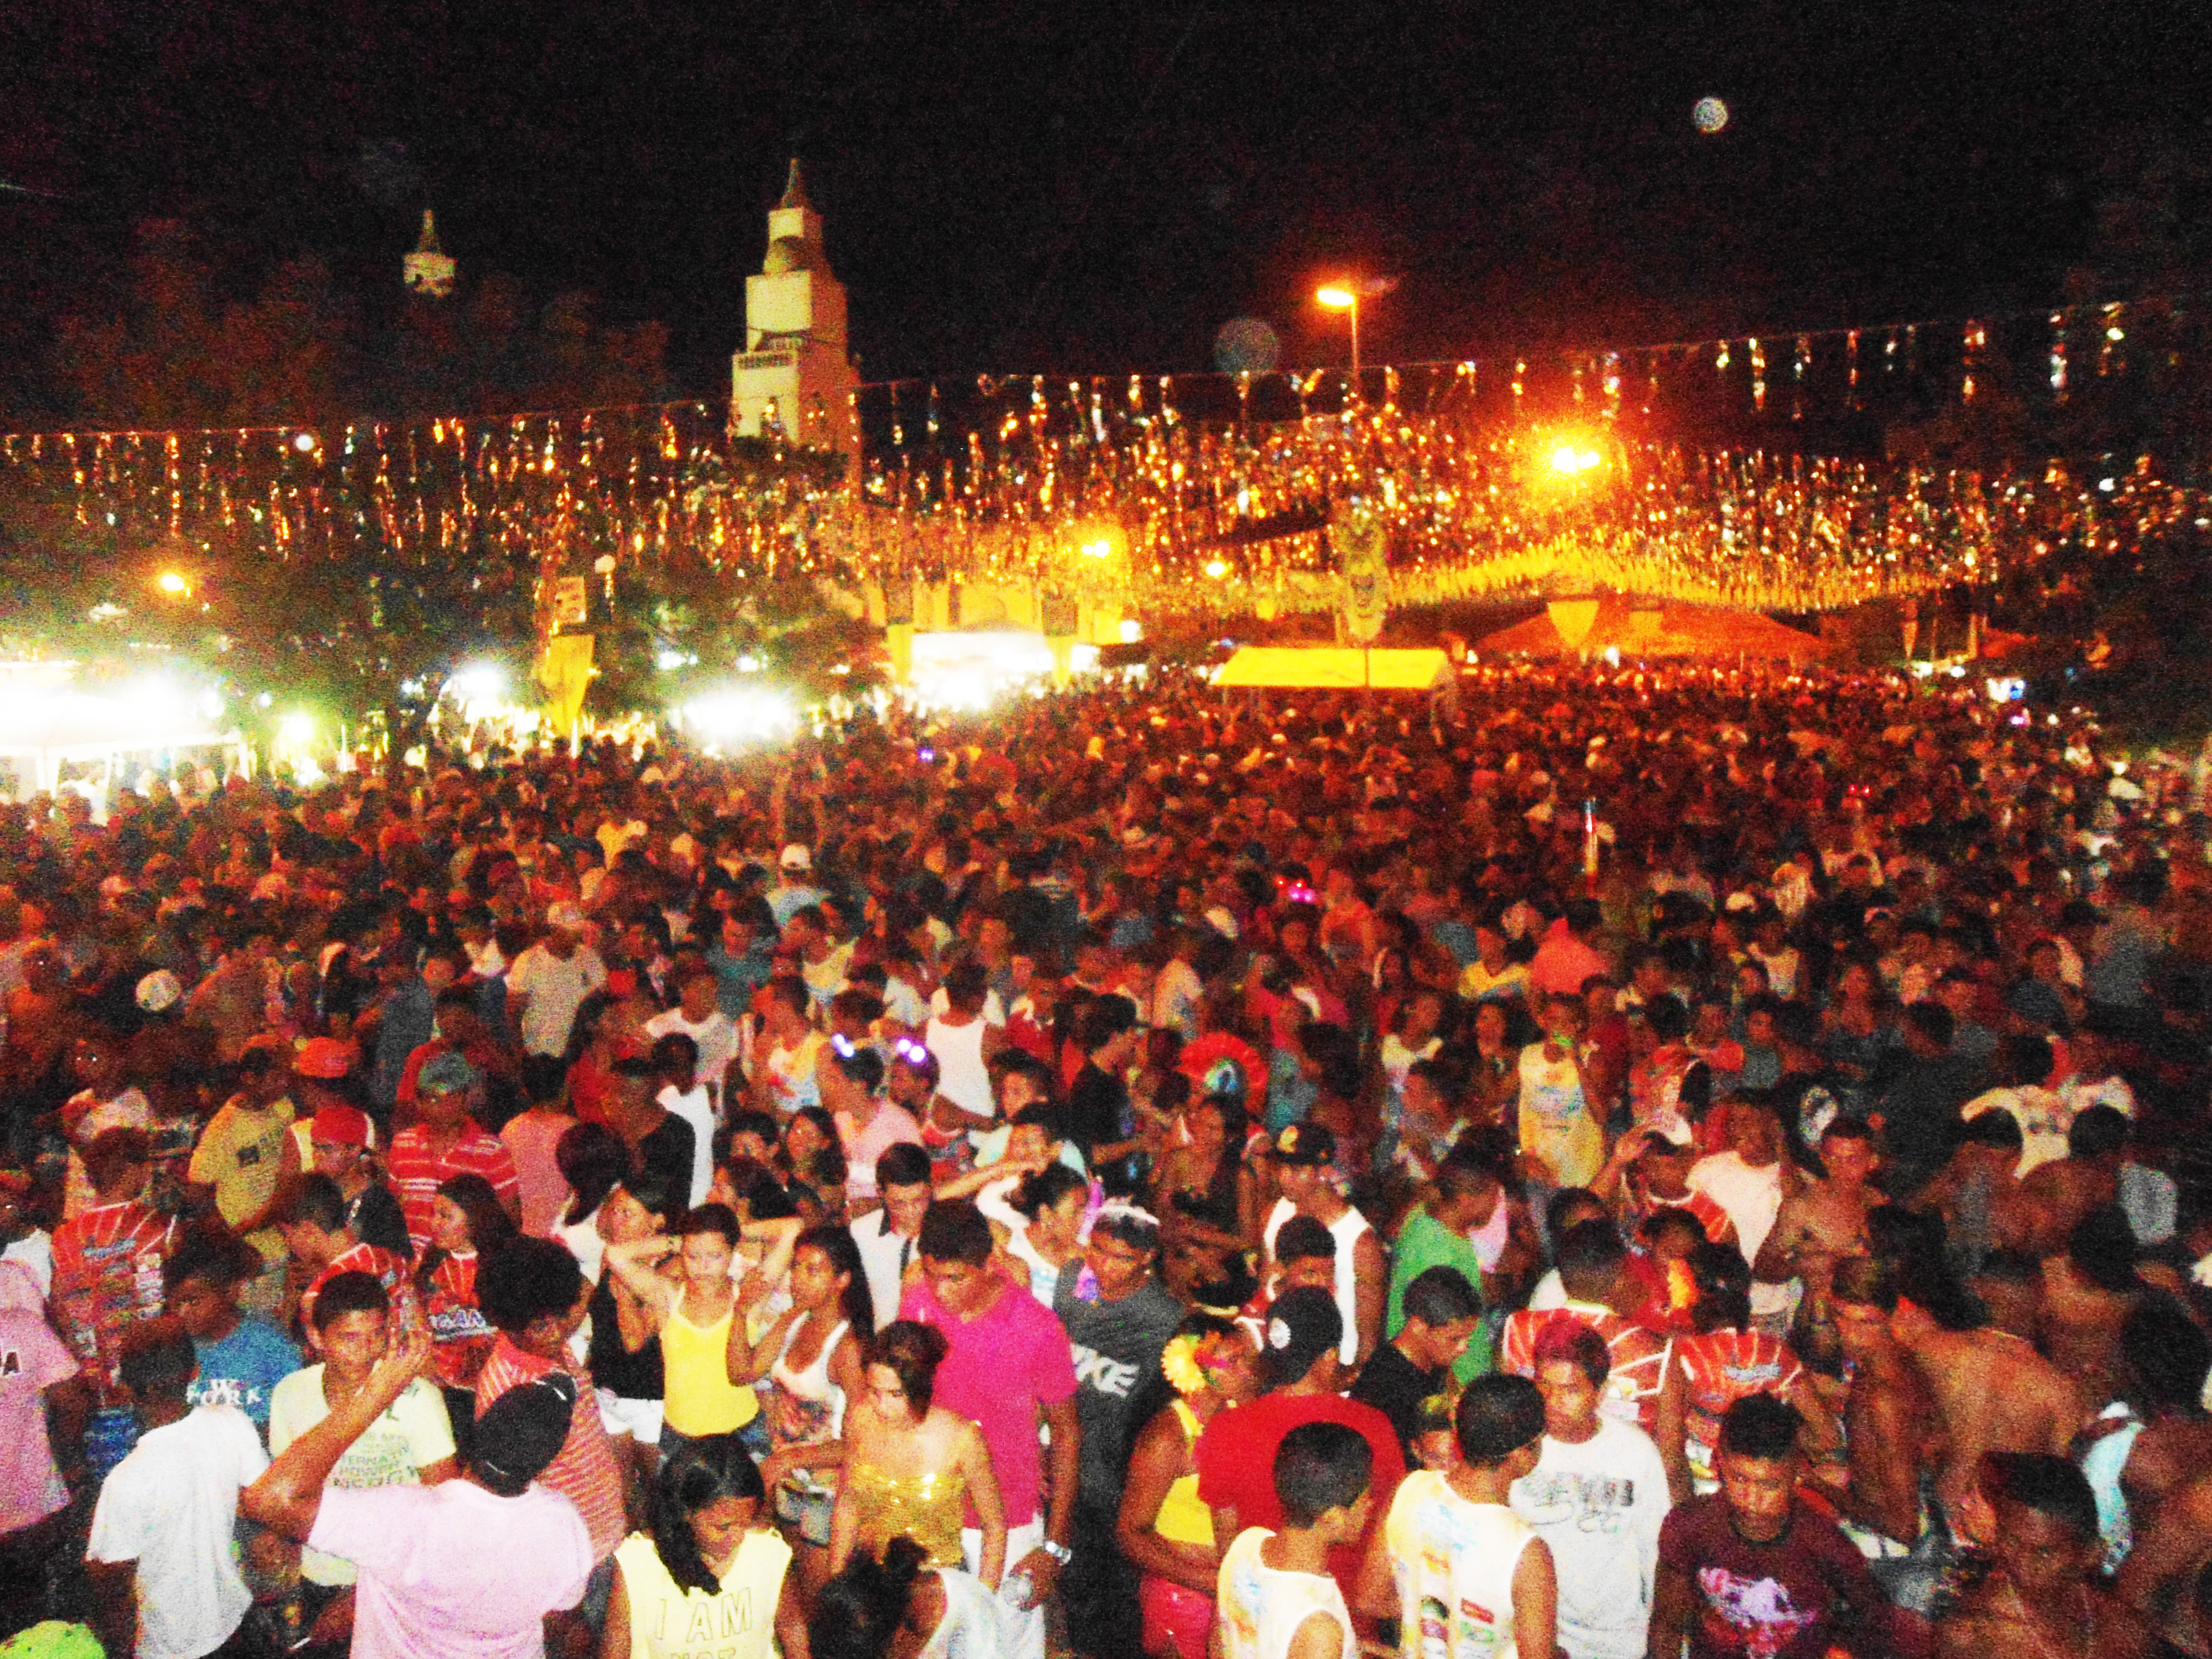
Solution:
<svg viewBox="0 0 2212 1659"><path fill-rule="evenodd" d="M606 1248L606 1270L637 1296L661 1338L661 1416L677 1444L732 1433L761 1416L745 1387L754 1376L745 1312L783 1283L801 1225L796 1217L741 1225L728 1203L701 1203L664 1234ZM732 1281L741 1239L765 1243L768 1254Z"/></svg>

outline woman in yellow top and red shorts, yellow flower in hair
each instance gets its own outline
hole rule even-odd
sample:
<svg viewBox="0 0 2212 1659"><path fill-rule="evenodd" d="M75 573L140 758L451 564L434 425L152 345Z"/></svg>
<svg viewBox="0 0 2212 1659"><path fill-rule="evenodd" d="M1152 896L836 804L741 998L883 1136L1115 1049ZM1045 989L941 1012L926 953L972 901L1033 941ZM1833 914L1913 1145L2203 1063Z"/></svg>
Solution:
<svg viewBox="0 0 2212 1659"><path fill-rule="evenodd" d="M1175 1398L1137 1433L1115 1535L1144 1575L1144 1650L1152 1659L1206 1659L1221 1546L1212 1511L1199 1500L1199 1433L1221 1407L1259 1396L1259 1356L1237 1323L1190 1314L1159 1369Z"/></svg>

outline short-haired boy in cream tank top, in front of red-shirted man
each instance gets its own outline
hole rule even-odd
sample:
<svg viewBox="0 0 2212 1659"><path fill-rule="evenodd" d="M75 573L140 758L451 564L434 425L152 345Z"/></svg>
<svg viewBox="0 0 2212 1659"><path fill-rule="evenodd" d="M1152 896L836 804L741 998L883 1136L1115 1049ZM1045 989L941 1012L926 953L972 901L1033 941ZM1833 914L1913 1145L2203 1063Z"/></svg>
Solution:
<svg viewBox="0 0 2212 1659"><path fill-rule="evenodd" d="M1303 1422L1274 1453L1283 1531L1248 1526L1221 1557L1221 1659L1358 1659L1352 1610L1329 1551L1354 1542L1374 1509L1374 1453L1358 1429Z"/></svg>

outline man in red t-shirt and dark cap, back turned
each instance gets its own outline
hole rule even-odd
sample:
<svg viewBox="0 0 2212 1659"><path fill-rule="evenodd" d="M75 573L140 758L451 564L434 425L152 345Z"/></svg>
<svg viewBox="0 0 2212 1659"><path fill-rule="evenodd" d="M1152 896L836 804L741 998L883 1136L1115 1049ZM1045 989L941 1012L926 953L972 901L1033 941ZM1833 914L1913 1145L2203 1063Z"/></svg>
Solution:
<svg viewBox="0 0 2212 1659"><path fill-rule="evenodd" d="M1405 1453L1389 1418L1338 1389L1349 1374L1338 1358L1345 1336L1336 1298L1301 1285L1274 1298L1261 1340L1261 1374L1270 1391L1250 1405L1214 1416L1199 1436L1199 1498L1214 1513L1214 1537L1237 1537L1245 1526L1276 1528L1283 1504L1274 1491L1274 1453L1301 1422L1340 1422L1374 1451L1374 1513L1389 1506L1405 1478ZM1542 1431L1542 1420L1537 1429ZM1369 1526L1371 1533L1371 1526ZM1354 1606L1367 1537L1329 1551L1329 1573Z"/></svg>

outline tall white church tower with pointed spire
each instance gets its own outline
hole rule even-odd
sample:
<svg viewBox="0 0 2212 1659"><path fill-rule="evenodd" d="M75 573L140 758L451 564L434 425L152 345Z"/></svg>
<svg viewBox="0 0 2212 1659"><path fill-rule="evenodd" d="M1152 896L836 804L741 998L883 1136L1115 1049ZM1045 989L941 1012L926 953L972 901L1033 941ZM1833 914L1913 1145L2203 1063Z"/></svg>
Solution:
<svg viewBox="0 0 2212 1659"><path fill-rule="evenodd" d="M858 458L845 290L830 274L823 217L807 201L796 159L783 201L768 210L768 259L745 279L745 349L730 361L730 380L734 434L781 434Z"/></svg>

